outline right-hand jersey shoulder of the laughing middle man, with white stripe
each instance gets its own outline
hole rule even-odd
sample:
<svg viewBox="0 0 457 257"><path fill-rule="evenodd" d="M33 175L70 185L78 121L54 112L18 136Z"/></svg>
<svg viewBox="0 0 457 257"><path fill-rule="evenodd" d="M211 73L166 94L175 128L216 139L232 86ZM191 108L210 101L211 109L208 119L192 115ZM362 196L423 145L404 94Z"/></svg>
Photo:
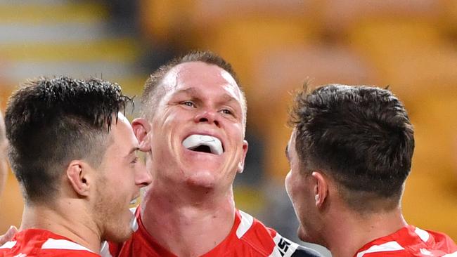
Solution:
<svg viewBox="0 0 457 257"><path fill-rule="evenodd" d="M237 236L256 251L268 253L267 256L271 257L321 256L316 251L300 246L279 235L278 232L272 228L267 228L249 214L243 211L238 211L238 213L241 221L236 231Z"/></svg>

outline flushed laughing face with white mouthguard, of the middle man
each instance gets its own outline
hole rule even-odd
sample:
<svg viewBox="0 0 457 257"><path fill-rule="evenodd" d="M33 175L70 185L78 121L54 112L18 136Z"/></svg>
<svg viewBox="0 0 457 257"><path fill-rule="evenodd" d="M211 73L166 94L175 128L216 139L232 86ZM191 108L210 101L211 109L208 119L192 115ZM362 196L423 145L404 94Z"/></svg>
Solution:
<svg viewBox="0 0 457 257"><path fill-rule="evenodd" d="M150 136L153 176L198 187L231 187L243 171L243 95L228 72L205 62L172 68L165 96L153 114Z"/></svg>

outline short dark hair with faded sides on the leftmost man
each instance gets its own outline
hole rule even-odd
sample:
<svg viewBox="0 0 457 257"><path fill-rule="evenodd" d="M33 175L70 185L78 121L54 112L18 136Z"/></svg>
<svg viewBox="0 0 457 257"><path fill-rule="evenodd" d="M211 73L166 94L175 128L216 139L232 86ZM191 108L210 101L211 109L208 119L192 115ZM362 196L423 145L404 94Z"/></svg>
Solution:
<svg viewBox="0 0 457 257"><path fill-rule="evenodd" d="M41 77L22 84L8 101L5 124L8 157L25 202L51 202L74 159L98 167L110 126L127 103L131 99L119 85L102 79Z"/></svg>

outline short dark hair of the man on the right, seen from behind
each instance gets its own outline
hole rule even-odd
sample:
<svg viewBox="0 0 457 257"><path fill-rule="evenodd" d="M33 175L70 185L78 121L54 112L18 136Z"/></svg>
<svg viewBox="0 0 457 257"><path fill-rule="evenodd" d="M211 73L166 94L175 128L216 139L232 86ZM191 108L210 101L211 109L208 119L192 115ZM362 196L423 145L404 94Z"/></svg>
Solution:
<svg viewBox="0 0 457 257"><path fill-rule="evenodd" d="M354 209L375 209L368 204L373 199L398 205L414 137L404 105L392 92L330 84L307 93L305 85L290 124L302 170L328 173Z"/></svg>

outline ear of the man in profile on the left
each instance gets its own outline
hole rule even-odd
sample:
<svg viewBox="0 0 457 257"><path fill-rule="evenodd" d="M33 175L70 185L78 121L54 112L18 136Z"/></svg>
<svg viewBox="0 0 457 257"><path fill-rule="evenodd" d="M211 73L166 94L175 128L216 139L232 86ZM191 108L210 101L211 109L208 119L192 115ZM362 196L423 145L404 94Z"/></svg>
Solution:
<svg viewBox="0 0 457 257"><path fill-rule="evenodd" d="M82 161L72 161L67 167L67 178L73 190L84 197L89 196L91 186L91 166Z"/></svg>

